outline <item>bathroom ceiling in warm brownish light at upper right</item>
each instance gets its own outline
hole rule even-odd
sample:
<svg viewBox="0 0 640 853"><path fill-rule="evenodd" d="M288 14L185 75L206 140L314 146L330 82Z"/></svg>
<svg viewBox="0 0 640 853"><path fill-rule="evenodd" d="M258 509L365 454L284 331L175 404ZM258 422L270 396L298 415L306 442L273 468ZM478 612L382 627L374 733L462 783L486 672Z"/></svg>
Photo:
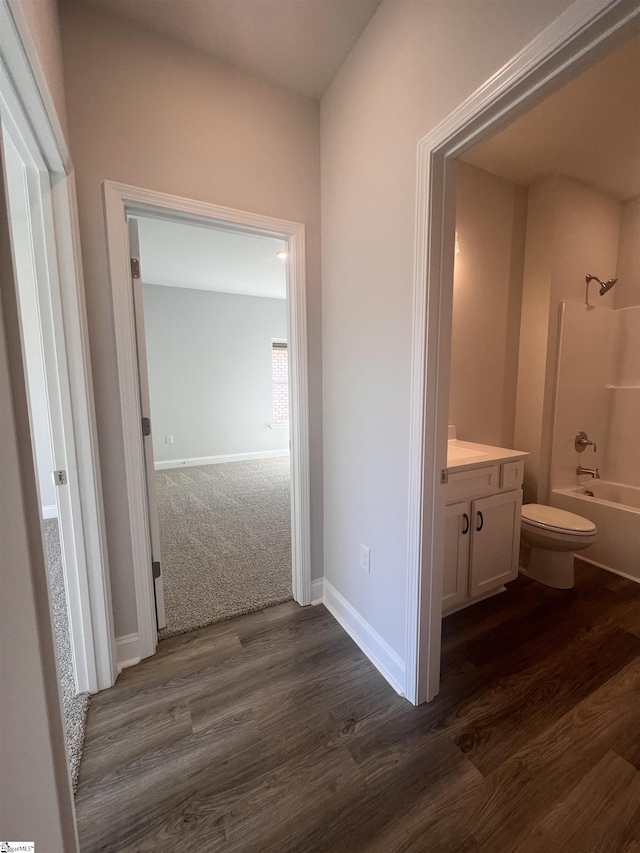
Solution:
<svg viewBox="0 0 640 853"><path fill-rule="evenodd" d="M640 194L640 36L462 158L530 186L567 175L626 201Z"/></svg>

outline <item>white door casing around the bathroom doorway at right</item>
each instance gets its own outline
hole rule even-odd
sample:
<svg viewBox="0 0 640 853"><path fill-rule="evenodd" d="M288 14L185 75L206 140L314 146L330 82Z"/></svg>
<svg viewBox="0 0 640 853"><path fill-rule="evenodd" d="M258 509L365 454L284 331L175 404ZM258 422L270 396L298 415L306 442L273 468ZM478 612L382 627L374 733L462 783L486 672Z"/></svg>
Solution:
<svg viewBox="0 0 640 853"><path fill-rule="evenodd" d="M406 696L440 688L456 160L637 34L628 0L577 0L418 143Z"/></svg>

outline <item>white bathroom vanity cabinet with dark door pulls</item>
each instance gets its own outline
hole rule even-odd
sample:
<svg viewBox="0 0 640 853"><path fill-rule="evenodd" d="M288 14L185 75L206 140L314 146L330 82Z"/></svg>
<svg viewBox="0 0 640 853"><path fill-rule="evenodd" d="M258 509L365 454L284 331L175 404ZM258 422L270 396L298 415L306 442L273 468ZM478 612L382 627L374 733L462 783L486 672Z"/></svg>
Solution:
<svg viewBox="0 0 640 853"><path fill-rule="evenodd" d="M522 459L450 470L443 614L504 590L518 575Z"/></svg>

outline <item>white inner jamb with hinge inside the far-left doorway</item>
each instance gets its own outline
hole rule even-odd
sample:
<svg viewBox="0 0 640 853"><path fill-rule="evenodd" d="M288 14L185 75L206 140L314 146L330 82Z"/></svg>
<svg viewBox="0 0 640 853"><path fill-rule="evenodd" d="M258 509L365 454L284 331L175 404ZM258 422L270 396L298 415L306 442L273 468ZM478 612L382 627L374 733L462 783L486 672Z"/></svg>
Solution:
<svg viewBox="0 0 640 853"><path fill-rule="evenodd" d="M95 692L113 682L112 668L99 676L97 649L91 629L91 601L82 520L82 501L70 388L70 370L64 336L64 312L58 278L49 176L44 164L33 159L17 126L3 114L9 212L16 258L18 303L22 339L32 357L26 361L27 387L32 389L34 359L41 364L44 409L32 410L32 435L38 428L34 416L46 421L50 442L50 470L65 481L55 486L56 517L64 577L73 675L78 692ZM32 391L30 390L30 394ZM33 400L33 397L32 397ZM34 455L37 456L34 447Z"/></svg>

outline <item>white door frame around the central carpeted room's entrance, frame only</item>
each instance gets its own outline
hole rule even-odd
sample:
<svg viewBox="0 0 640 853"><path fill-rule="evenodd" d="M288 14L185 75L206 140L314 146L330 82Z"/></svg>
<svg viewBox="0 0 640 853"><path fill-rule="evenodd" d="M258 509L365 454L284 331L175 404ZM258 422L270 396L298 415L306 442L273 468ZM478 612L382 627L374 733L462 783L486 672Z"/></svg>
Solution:
<svg viewBox="0 0 640 853"><path fill-rule="evenodd" d="M126 217L146 215L177 222L215 221L230 225L238 231L260 233L287 241L292 592L295 601L301 605L311 604L305 227L299 222L234 210L114 181L105 181L102 186L138 617L138 635L127 643L126 660L121 663L133 664L152 655L158 639L151 575L145 463L140 429L140 381Z"/></svg>

